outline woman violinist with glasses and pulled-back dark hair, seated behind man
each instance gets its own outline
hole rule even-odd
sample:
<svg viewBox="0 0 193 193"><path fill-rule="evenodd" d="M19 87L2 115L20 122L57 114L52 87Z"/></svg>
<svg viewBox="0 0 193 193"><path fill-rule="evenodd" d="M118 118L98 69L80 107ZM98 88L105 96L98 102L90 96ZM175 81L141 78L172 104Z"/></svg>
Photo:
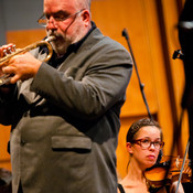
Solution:
<svg viewBox="0 0 193 193"><path fill-rule="evenodd" d="M131 125L127 133L127 151L130 154L128 173L118 184L118 193L174 193L178 181L159 189L149 189L144 171L154 165L164 146L159 124L149 118ZM178 193L184 193L180 183Z"/></svg>

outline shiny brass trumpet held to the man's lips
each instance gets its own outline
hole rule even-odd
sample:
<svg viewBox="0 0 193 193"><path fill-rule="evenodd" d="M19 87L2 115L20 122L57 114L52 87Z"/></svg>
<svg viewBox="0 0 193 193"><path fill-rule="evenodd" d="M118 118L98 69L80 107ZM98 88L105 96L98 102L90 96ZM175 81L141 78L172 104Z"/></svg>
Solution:
<svg viewBox="0 0 193 193"><path fill-rule="evenodd" d="M55 36L47 36L45 40L35 42L33 44L30 44L30 45L23 47L23 49L19 49L15 52L12 52L11 54L6 55L4 57L0 58L0 68L2 66L7 66L9 60L11 57L13 57L14 55L24 54L24 53L26 53L29 51L32 51L32 50L34 50L36 47L40 47L40 46L43 46L43 45L49 49L49 54L47 54L47 56L42 62L49 61L52 57L52 54L53 54L53 49L52 49L50 42L52 42L54 40L55 40ZM4 85L6 83L9 83L10 82L10 78L11 78L11 75L10 74L2 74L0 76L0 86L1 85Z"/></svg>

